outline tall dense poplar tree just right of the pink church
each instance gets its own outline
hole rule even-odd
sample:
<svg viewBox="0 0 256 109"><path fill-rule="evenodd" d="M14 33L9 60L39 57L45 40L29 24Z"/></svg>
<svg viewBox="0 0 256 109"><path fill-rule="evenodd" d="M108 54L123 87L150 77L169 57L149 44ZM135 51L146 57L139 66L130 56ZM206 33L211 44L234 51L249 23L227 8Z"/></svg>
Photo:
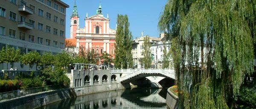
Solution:
<svg viewBox="0 0 256 109"><path fill-rule="evenodd" d="M116 29L116 43L115 43L115 60L116 68L132 67L132 35L129 30L130 23L128 22L128 15L117 15L117 29Z"/></svg>

